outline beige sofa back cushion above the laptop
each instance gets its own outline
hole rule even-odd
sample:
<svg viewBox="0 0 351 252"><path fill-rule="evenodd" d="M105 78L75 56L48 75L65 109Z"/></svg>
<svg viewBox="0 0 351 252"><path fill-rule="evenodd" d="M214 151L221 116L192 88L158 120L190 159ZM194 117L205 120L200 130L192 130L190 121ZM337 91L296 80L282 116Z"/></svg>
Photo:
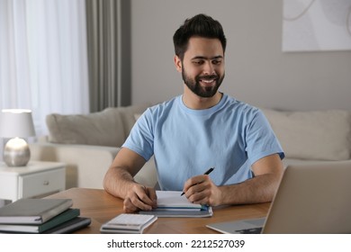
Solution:
<svg viewBox="0 0 351 252"><path fill-rule="evenodd" d="M278 112L262 109L289 158L350 158L351 118L341 110Z"/></svg>

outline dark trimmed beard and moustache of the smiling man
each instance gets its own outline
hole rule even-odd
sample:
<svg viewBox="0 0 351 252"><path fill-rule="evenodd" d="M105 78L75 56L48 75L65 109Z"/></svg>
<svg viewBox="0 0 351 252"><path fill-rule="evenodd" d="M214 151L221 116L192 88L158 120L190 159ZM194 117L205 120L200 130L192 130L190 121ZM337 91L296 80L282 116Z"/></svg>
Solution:
<svg viewBox="0 0 351 252"><path fill-rule="evenodd" d="M191 78L190 76L186 75L183 68L182 77L183 77L184 84L187 85L187 87L193 92L193 94L196 94L203 98L209 98L217 93L218 89L220 88L220 84L224 79L224 74L222 76L218 76L218 75L195 76L194 78ZM213 81L215 82L215 85L202 86L200 84L201 80L211 80L211 79L213 79Z"/></svg>

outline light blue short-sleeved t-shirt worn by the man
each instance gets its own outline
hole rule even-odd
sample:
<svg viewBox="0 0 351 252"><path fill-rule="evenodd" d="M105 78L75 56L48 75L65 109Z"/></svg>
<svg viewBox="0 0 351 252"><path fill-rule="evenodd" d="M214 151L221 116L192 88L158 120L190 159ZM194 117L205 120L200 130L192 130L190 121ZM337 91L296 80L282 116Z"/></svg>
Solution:
<svg viewBox="0 0 351 252"><path fill-rule="evenodd" d="M187 108L182 95L148 108L122 147L148 160L155 156L161 190L183 190L184 182L209 167L214 184L238 184L253 176L258 159L284 152L257 108L223 94L205 110Z"/></svg>

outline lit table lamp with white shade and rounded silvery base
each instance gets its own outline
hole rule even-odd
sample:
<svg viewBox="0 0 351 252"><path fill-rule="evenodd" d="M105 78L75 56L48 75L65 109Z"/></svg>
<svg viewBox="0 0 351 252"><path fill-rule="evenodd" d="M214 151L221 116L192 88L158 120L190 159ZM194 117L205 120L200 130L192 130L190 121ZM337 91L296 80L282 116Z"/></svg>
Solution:
<svg viewBox="0 0 351 252"><path fill-rule="evenodd" d="M26 166L31 158L28 143L22 138L35 135L30 110L8 109L0 113L0 137L9 139L4 146L7 166Z"/></svg>

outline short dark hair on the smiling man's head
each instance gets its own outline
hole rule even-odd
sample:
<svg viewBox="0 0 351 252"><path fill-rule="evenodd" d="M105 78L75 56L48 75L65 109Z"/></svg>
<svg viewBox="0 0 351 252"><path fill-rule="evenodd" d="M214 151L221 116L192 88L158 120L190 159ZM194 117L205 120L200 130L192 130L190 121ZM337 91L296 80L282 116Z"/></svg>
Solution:
<svg viewBox="0 0 351 252"><path fill-rule="evenodd" d="M184 53L188 47L189 39L198 36L208 39L219 39L223 52L226 49L227 39L224 35L221 24L206 14L197 14L190 19L186 19L173 35L175 44L175 55L183 60Z"/></svg>

